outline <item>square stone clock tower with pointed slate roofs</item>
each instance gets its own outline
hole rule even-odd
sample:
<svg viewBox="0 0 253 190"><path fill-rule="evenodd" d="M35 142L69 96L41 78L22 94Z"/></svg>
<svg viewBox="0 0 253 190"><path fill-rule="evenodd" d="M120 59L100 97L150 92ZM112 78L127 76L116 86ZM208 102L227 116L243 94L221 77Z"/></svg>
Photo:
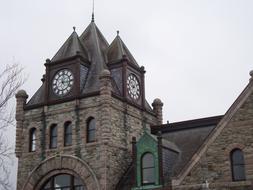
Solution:
<svg viewBox="0 0 253 190"><path fill-rule="evenodd" d="M132 137L162 122L162 103L145 99L144 67L94 20L45 67L29 101L16 94L17 189L115 189L131 167Z"/></svg>

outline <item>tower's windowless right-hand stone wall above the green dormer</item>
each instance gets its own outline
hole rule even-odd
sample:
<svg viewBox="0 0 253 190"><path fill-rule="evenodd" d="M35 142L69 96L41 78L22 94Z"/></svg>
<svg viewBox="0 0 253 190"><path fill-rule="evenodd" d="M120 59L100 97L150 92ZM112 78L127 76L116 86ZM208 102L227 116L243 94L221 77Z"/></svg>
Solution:
<svg viewBox="0 0 253 190"><path fill-rule="evenodd" d="M115 189L132 161L132 137L138 139L143 133L144 126L157 124L157 119L115 98L112 98L111 119L112 136L108 144L107 162L110 182L108 189Z"/></svg>

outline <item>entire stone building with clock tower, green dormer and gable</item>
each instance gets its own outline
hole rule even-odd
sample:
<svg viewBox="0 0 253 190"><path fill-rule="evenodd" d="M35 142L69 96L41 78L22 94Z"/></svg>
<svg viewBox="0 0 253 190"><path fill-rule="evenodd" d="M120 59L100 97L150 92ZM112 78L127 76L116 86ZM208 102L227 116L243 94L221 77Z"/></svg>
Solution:
<svg viewBox="0 0 253 190"><path fill-rule="evenodd" d="M253 80L225 115L163 124L145 69L94 19L16 94L18 190L253 189Z"/></svg>

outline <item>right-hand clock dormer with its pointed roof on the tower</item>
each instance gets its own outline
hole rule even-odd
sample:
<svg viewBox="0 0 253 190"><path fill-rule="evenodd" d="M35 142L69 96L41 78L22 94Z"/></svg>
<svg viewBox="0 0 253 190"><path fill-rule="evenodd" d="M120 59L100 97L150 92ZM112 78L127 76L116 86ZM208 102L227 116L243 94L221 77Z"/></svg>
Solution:
<svg viewBox="0 0 253 190"><path fill-rule="evenodd" d="M119 95L129 104L145 109L143 66L139 66L117 32L108 48L108 66L119 87Z"/></svg>

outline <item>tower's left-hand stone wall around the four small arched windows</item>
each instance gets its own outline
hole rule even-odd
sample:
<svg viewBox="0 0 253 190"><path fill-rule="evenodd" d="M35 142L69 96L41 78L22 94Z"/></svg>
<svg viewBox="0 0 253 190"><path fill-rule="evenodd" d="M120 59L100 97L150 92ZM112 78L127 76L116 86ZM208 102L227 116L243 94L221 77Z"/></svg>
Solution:
<svg viewBox="0 0 253 190"><path fill-rule="evenodd" d="M45 107L46 117L46 145L45 145L45 156L46 158L65 154L65 155L76 155L77 148L77 133L80 133L81 139L81 153L82 159L85 160L94 170L96 171L96 159L100 155L100 149L95 142L94 144L86 143L86 120L93 116L97 119L99 112L99 102L96 97L86 98L81 102L80 105L80 132L76 130L75 120L75 106L76 102L67 102L57 104L49 107ZM42 118L43 108L37 108L25 111L25 118L23 123L22 138L21 138L21 157L18 161L18 184L17 189L21 189L24 182L26 181L29 173L34 169L41 161L41 137L43 128ZM72 122L72 146L64 147L64 123L66 121ZM51 124L57 124L58 126L58 137L57 137L57 148L49 148L49 128ZM96 121L97 127L99 128L99 119ZM36 128L36 152L29 152L29 130Z"/></svg>

